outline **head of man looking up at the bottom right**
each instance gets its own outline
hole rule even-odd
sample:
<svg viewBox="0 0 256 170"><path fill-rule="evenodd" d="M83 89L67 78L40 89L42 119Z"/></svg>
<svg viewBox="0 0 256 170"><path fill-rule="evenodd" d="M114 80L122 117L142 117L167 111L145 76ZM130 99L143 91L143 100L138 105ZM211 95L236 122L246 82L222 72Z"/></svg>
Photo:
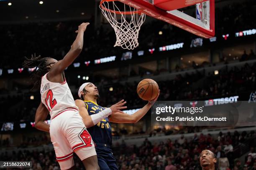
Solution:
<svg viewBox="0 0 256 170"><path fill-rule="evenodd" d="M210 150L203 150L200 154L200 165L203 170L214 170L214 164L217 163L217 159L214 158L214 154Z"/></svg>

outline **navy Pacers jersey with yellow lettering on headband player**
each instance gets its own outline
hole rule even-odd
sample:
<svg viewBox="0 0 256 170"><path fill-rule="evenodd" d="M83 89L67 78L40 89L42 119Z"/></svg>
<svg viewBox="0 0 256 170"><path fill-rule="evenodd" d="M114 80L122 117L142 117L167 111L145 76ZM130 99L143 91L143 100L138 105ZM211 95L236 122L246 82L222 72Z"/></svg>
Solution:
<svg viewBox="0 0 256 170"><path fill-rule="evenodd" d="M105 109L104 107L97 105L93 101L84 101L84 103L89 115L97 114ZM87 130L92 136L92 140L96 144L102 143L102 144L112 145L111 126L110 126L108 117L106 117L105 119L102 119L96 125L90 128L87 128Z"/></svg>

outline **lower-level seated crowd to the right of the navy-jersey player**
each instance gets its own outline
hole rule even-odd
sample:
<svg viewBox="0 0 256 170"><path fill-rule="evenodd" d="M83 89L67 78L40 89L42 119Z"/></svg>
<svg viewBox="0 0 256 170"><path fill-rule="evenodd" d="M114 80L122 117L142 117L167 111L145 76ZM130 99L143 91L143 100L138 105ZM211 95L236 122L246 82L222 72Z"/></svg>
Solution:
<svg viewBox="0 0 256 170"><path fill-rule="evenodd" d="M237 131L233 134L220 132L217 138L211 134L195 134L194 138L187 139L182 135L178 140L168 139L154 144L146 139L139 147L126 146L125 143L118 146L121 150L117 162L120 170L201 170L200 153L208 149L218 158L220 170L253 170L253 166L256 167L255 140L254 131L241 134ZM238 148L244 145L252 146L245 160L235 159L245 154L238 153ZM117 152L115 148L113 150Z"/></svg>

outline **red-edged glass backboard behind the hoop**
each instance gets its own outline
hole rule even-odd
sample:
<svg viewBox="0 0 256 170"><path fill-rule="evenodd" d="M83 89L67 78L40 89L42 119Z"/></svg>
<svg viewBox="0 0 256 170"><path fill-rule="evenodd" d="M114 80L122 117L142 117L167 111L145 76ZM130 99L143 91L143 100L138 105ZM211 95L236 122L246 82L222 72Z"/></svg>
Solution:
<svg viewBox="0 0 256 170"><path fill-rule="evenodd" d="M118 0L148 16L204 38L215 35L215 0ZM195 5L196 16L177 10Z"/></svg>

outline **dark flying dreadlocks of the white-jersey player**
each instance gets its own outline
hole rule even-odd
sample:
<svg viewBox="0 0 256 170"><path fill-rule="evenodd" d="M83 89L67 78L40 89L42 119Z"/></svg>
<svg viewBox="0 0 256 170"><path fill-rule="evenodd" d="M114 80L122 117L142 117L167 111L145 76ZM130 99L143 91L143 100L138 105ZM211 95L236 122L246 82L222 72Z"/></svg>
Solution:
<svg viewBox="0 0 256 170"><path fill-rule="evenodd" d="M46 61L47 61L46 57L43 58L41 57L41 55L38 55L36 57L36 53L34 55L31 55L31 58L25 57L25 61L23 62L23 67L35 68L31 74L31 78L33 82L35 82L32 89L38 89L41 85L42 76L44 76L47 72L49 72L48 66L50 66L51 63L47 64Z"/></svg>

